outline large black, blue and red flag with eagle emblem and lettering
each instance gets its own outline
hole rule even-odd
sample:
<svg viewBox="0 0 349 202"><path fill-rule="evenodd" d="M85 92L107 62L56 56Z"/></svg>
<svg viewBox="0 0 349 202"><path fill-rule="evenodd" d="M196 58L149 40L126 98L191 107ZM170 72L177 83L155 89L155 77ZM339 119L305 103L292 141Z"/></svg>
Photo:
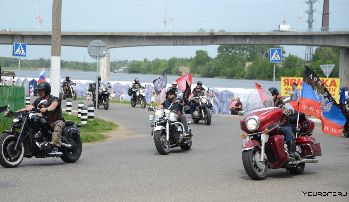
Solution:
<svg viewBox="0 0 349 202"><path fill-rule="evenodd" d="M321 120L322 132L341 135L346 119L324 83L307 66L304 70L299 111Z"/></svg>

